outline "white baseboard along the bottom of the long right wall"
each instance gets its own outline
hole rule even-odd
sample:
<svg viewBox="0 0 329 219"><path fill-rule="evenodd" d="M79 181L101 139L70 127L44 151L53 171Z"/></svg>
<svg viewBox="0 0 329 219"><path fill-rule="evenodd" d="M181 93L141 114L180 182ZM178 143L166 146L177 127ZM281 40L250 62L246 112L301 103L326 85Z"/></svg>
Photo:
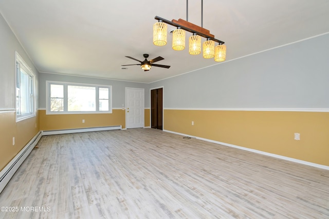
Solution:
<svg viewBox="0 0 329 219"><path fill-rule="evenodd" d="M281 156L281 155L278 155L278 154L271 154L271 153L267 153L267 152L264 152L264 151L245 148L245 147L241 147L241 146L237 146L237 145L234 145L234 144L229 144L229 143L225 143L225 142L221 142L221 141L214 141L214 140L210 140L210 139L207 139L207 138L200 138L200 137L196 137L196 136L185 135L185 134L182 134L182 133L172 132L172 131L169 131L169 130L163 130L163 131L173 133L173 134L177 134L177 135L188 136L188 137L191 137L191 138L196 138L196 139L199 139L199 140L204 140L204 141L208 141L208 142L212 142L212 143L216 143L216 144L222 144L222 145L225 145L225 146L228 146L228 147L231 147L231 148L241 149L241 150L244 150L244 151L249 151L249 152L253 152L253 153L257 153L257 154L263 154L263 155L270 156L270 157L275 157L275 158L279 158L279 159L283 159L283 160L288 160L288 161L292 161L292 162L296 162L296 163L301 163L303 165L312 166L312 167L316 167L316 168L321 168L321 169L324 169L324 170L329 170L329 166L319 165L318 163L312 163L312 162L299 160L299 159L295 159L295 158L291 158L291 157L285 157L285 156Z"/></svg>

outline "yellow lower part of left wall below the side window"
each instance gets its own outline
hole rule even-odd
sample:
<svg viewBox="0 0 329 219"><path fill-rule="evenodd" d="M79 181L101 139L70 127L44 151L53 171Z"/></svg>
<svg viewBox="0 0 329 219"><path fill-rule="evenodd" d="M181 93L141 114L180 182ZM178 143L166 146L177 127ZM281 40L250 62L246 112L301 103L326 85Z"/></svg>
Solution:
<svg viewBox="0 0 329 219"><path fill-rule="evenodd" d="M0 112L0 171L39 132L38 118L37 112L35 117L16 122L14 111ZM12 145L13 137L15 145Z"/></svg>

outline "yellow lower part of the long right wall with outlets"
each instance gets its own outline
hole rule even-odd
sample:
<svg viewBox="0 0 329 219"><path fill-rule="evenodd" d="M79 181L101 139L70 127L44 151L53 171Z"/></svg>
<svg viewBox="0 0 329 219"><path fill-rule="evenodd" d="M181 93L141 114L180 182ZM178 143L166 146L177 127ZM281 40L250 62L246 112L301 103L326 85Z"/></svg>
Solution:
<svg viewBox="0 0 329 219"><path fill-rule="evenodd" d="M165 109L164 129L329 166L329 113Z"/></svg>

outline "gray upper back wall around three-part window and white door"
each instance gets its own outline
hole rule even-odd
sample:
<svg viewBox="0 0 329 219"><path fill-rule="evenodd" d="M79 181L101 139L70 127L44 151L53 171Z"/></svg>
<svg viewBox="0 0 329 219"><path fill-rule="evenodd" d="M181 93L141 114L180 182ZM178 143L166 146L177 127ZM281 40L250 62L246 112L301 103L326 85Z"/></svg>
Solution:
<svg viewBox="0 0 329 219"><path fill-rule="evenodd" d="M40 108L46 108L46 81L61 81L61 82L83 83L83 84L112 85L112 99L113 99L112 107L113 108L121 108L122 106L125 106L125 88L126 87L144 88L145 106L150 105L149 98L147 98L147 95L146 95L146 93L148 92L148 89L145 89L148 86L148 84L145 84L145 83L40 73L39 74Z"/></svg>

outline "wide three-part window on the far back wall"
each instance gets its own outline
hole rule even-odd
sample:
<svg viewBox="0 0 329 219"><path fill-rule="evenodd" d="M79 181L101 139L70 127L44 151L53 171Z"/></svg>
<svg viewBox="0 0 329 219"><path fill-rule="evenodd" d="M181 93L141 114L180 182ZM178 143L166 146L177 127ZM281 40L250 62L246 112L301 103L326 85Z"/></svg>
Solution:
<svg viewBox="0 0 329 219"><path fill-rule="evenodd" d="M112 113L112 86L47 81L47 114Z"/></svg>

